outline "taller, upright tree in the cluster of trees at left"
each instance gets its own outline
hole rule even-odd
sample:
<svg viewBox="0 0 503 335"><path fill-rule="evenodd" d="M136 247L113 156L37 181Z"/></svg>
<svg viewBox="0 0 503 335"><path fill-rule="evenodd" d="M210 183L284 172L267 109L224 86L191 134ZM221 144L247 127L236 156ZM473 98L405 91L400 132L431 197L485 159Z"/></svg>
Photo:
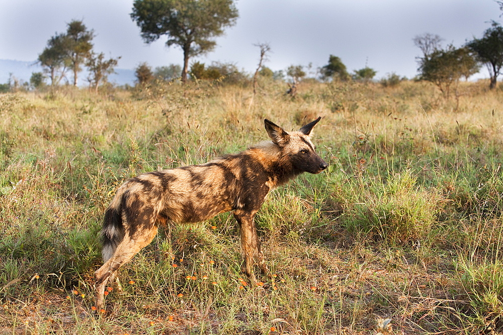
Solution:
<svg viewBox="0 0 503 335"><path fill-rule="evenodd" d="M64 37L64 48L66 57L73 70L73 86L77 86L77 75L81 65L91 55L94 38L93 30L88 30L82 21L73 20L67 24L66 35Z"/></svg>

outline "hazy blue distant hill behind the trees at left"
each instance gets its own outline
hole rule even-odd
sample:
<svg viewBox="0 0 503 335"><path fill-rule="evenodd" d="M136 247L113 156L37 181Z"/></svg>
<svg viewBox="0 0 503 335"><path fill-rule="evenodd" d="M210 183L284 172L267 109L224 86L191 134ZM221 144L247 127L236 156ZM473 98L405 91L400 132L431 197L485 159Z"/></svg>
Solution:
<svg viewBox="0 0 503 335"><path fill-rule="evenodd" d="M9 80L10 73L20 81L30 81L33 72L42 72L42 67L33 62L24 62L19 60L0 59L0 84L5 84ZM108 81L117 85L129 84L133 85L136 79L134 70L129 69L115 69L115 72L108 76ZM88 82L86 77L87 71L80 72L79 86L87 86ZM81 79L80 79L81 78ZM71 80L71 74L69 75ZM50 79L46 80L49 83Z"/></svg>

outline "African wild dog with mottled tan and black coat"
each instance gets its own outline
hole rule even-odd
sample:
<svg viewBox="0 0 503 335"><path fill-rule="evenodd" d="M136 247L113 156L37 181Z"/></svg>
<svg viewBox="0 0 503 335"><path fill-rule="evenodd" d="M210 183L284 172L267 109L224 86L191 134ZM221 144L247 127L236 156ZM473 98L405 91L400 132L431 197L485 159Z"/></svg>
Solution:
<svg viewBox="0 0 503 335"><path fill-rule="evenodd" d="M96 307L104 307L107 282L140 249L147 246L159 226L198 222L232 210L241 235L242 270L256 281L252 266L264 263L254 217L266 195L302 172L320 173L328 164L310 141L321 118L298 132L286 132L264 120L272 142L226 155L202 165L141 174L119 187L105 212L103 261L96 272Z"/></svg>

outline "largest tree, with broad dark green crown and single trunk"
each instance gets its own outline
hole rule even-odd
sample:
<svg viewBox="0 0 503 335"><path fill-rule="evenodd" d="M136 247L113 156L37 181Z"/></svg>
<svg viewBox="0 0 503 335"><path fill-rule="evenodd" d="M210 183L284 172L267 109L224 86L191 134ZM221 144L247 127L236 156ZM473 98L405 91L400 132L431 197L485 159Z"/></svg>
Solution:
<svg viewBox="0 0 503 335"><path fill-rule="evenodd" d="M224 27L234 25L237 16L233 0L135 0L131 13L146 43L167 35L168 47L182 48L184 83L190 57L213 50L213 38L222 35Z"/></svg>

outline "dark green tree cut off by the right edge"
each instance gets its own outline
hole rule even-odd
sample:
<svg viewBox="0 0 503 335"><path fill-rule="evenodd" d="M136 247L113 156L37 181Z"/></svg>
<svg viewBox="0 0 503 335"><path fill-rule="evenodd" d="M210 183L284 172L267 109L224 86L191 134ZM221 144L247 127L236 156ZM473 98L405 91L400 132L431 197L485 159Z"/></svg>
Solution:
<svg viewBox="0 0 503 335"><path fill-rule="evenodd" d="M503 27L493 21L491 28L484 32L482 38L474 38L466 46L477 54L480 62L486 65L490 77L489 88L495 88L497 77L503 66Z"/></svg>

